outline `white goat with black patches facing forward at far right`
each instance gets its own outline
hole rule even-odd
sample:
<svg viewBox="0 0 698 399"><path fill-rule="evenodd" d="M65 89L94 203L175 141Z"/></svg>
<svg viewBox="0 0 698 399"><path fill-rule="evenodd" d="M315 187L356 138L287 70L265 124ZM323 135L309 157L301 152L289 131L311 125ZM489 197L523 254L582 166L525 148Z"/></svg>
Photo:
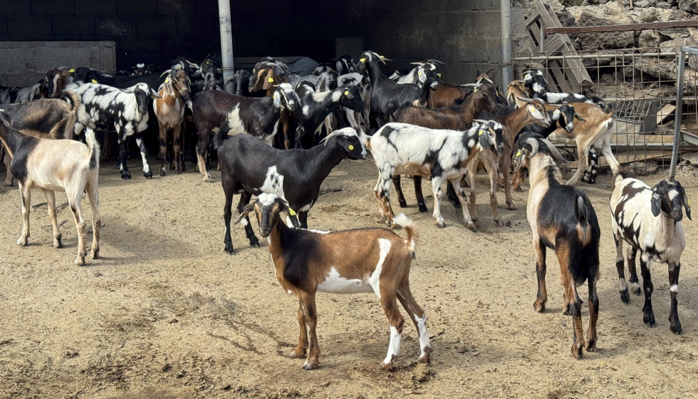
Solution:
<svg viewBox="0 0 698 399"><path fill-rule="evenodd" d="M669 266L669 284L671 310L669 313L670 329L674 334L681 334L681 322L677 313L677 295L679 294L679 271L681 254L686 246L686 237L681 224L683 212L691 219L691 204L686 190L676 180L660 180L650 188L630 170L621 169L613 176L613 192L610 196L611 220L613 222L613 239L618 260L620 280L620 300L630 303L625 274L623 273L623 242L627 249L627 269L630 271L632 292L640 295L640 283L635 271L635 256L640 251L640 269L642 284L645 289L645 306L642 308L642 320L648 327L655 326L655 313L652 311L652 277L650 262L654 259Z"/></svg>

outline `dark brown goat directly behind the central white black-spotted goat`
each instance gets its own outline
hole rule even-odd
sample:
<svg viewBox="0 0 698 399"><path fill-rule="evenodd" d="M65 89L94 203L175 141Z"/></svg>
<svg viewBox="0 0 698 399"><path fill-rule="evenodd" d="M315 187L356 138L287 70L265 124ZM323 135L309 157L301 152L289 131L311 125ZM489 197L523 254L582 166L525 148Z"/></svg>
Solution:
<svg viewBox="0 0 698 399"><path fill-rule="evenodd" d="M435 110L415 106L405 107L397 111L395 119L400 123L410 123L410 125L429 129L468 130L471 128L473 120L482 110L496 112L497 109L496 89L492 85L483 84L476 88L472 95L457 107L437 108ZM415 175L412 177L412 180L415 182L417 207L419 207L420 212L427 212L427 204L424 203L424 195L422 195L422 176ZM402 194L402 187L400 186L400 175L392 177L392 182L395 185L397 202L400 204L400 207L407 207L405 195ZM453 187L448 182L447 191L452 190Z"/></svg>

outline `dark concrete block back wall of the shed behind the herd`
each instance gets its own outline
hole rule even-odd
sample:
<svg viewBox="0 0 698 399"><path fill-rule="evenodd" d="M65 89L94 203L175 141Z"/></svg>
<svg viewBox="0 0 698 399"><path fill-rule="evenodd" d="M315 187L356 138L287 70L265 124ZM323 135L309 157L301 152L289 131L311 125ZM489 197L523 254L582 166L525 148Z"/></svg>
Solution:
<svg viewBox="0 0 698 399"><path fill-rule="evenodd" d="M501 71L499 0L231 0L236 56L309 56L328 61L335 38L405 69L422 57L449 82ZM219 51L215 0L0 0L0 41L114 41L118 68L202 59Z"/></svg>

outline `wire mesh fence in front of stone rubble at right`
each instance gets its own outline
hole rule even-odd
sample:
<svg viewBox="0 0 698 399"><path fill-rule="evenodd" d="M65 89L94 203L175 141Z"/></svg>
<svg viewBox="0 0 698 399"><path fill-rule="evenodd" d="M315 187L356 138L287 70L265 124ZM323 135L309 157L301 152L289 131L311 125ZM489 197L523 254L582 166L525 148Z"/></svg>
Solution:
<svg viewBox="0 0 698 399"><path fill-rule="evenodd" d="M677 106L683 110L681 130L698 135L698 74L694 72L698 70L698 56L687 55L684 97L677 105L677 50L661 46L551 50L542 55L514 53L514 78L522 79L523 71L540 69L553 92L602 98L615 117L611 128L615 157L636 170L653 171L670 166ZM686 142L681 144L679 150L695 149ZM602 165L608 164L603 161Z"/></svg>

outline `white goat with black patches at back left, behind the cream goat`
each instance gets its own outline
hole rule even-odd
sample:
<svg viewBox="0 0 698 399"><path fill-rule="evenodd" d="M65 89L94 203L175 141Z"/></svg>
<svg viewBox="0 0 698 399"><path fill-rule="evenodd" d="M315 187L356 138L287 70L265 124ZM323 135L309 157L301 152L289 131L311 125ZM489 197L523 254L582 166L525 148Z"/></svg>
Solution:
<svg viewBox="0 0 698 399"><path fill-rule="evenodd" d="M143 161L143 175L146 179L152 177L148 165L147 149L142 139L142 133L148 123L148 102L150 98L160 98L155 90L145 83L138 83L131 88L118 89L111 86L87 83L75 89L75 93L85 105L88 119L80 118L75 123L75 135L79 136L83 128L98 128L116 130L119 142L119 162L122 179L130 179L126 160L128 159L127 139L134 137L140 148Z"/></svg>

